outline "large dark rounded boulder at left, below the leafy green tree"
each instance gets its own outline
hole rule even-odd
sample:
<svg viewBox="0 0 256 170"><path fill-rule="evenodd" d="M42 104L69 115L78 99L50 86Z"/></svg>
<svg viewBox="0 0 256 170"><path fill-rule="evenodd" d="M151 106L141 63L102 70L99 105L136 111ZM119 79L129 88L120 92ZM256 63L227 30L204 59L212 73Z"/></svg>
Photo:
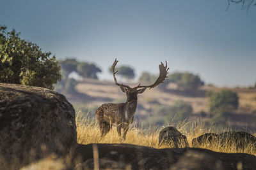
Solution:
<svg viewBox="0 0 256 170"><path fill-rule="evenodd" d="M76 144L75 111L57 92L0 83L0 167L65 155Z"/></svg>

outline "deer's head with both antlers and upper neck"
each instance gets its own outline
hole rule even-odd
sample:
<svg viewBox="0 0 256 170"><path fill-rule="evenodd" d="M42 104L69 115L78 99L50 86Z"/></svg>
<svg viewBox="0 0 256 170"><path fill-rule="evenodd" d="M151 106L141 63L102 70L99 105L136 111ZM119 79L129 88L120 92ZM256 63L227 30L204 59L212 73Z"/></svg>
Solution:
<svg viewBox="0 0 256 170"><path fill-rule="evenodd" d="M118 72L118 71L115 71L115 66L116 66L117 62L118 62L118 60L115 59L115 62L113 62L113 65L111 67L111 71L113 73L115 84L120 87L122 92L126 93L127 102L137 101L138 94L145 92L145 90L147 88L152 89L152 88L156 87L157 85L159 85L160 83L163 83L164 79L166 78L166 75L168 74L168 69L169 69L169 68L167 68L167 62L165 62L166 63L165 66L161 62L161 64L159 65L159 71L160 71L159 77L157 78L155 83L153 83L152 85L140 85L139 84L138 86L131 88L131 87L129 87L129 85L117 83L116 76L115 76L115 74Z"/></svg>

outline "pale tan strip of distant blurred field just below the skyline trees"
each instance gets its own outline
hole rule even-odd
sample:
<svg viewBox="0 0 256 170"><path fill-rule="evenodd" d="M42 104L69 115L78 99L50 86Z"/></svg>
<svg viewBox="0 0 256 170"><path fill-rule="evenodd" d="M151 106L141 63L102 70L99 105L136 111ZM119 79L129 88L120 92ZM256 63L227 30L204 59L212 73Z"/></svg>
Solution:
<svg viewBox="0 0 256 170"><path fill-rule="evenodd" d="M131 87L138 85L129 84ZM175 90L172 90L172 85L170 85L169 90L162 91L157 88L146 90L143 94L138 96L138 103L143 105L144 108L148 108L150 104L148 101L157 101L159 104L172 105L177 100L186 101L193 107L193 113L200 113L200 111L208 112L209 111L209 98L204 95L204 92L213 91L218 92L220 90L227 88L219 88L213 86L204 86L201 87L198 91L201 92L201 95L189 96L182 93L177 93ZM125 101L125 94L113 84L113 82L108 81L99 81L99 80L90 80L85 79L81 81L76 86L76 90L83 94L95 97L94 101L88 101L90 104L100 105L105 101L100 101L97 97L107 97L112 101ZM232 88L234 92L237 92L239 96L239 108L237 112L251 114L256 112L256 89L247 89L247 88ZM143 112L141 112L143 114Z"/></svg>

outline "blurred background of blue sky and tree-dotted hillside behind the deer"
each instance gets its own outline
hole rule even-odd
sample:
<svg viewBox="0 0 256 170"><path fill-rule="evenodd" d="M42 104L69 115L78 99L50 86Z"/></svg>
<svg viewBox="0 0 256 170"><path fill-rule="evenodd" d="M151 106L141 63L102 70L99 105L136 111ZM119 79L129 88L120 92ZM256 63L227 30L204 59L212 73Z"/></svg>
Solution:
<svg viewBox="0 0 256 170"><path fill-rule="evenodd" d="M0 25L51 52L62 79L54 89L95 117L103 103L125 102L119 82L165 82L138 97L138 125L200 120L255 131L255 1L1 1Z"/></svg>

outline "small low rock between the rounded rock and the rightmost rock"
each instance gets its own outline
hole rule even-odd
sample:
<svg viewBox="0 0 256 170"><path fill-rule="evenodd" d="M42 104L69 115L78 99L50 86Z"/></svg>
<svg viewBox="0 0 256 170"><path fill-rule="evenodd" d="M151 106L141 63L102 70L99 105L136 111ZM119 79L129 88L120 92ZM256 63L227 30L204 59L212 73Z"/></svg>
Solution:
<svg viewBox="0 0 256 170"><path fill-rule="evenodd" d="M192 139L193 147L202 147L205 145L214 145L218 140L218 134L206 133L198 136L198 138Z"/></svg>

